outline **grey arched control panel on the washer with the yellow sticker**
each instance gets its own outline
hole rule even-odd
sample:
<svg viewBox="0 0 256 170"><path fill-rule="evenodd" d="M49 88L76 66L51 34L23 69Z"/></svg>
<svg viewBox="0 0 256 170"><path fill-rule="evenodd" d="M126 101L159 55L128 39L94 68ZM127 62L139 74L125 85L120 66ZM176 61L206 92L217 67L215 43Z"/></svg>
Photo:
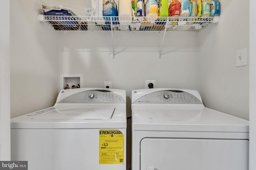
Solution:
<svg viewBox="0 0 256 170"><path fill-rule="evenodd" d="M108 90L87 90L72 94L58 103L115 103L124 104L123 98Z"/></svg>

